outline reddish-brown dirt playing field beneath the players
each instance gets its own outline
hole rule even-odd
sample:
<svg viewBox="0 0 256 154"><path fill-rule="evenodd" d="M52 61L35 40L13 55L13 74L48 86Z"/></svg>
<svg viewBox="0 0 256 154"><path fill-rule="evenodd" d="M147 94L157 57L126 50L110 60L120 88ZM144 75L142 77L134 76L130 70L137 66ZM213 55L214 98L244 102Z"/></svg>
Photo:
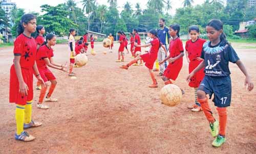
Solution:
<svg viewBox="0 0 256 154"><path fill-rule="evenodd" d="M256 85L256 49L232 45ZM28 130L36 137L30 143L14 140L15 104L9 103L13 51L12 47L0 49L0 153L256 153L256 90L245 90L245 76L237 65L230 64L232 103L228 108L227 141L214 148L203 112L193 113L186 108L194 101L194 91L185 81L185 59L175 83L186 93L178 106L167 107L159 99L164 85L161 79L157 78L159 87L151 89L146 67L119 69L121 63L115 63L117 49L115 44L115 52L104 55L102 51L106 49L96 44L97 55L89 55L88 65L75 68L76 80L52 69L58 81L53 98L58 102L46 103L50 106L48 110L37 109L39 91L34 90L33 120L43 125ZM54 54L57 63L69 61L67 45L56 45ZM131 54L125 54L125 62L130 57ZM212 102L210 107L218 118Z"/></svg>

